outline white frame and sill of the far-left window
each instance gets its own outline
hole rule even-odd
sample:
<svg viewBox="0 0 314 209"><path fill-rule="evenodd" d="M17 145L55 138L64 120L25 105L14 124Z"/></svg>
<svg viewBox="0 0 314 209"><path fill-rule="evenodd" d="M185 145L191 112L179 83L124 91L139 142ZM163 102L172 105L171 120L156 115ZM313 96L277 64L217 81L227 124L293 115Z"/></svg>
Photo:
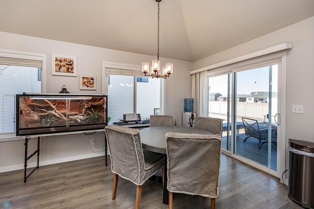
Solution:
<svg viewBox="0 0 314 209"><path fill-rule="evenodd" d="M46 54L0 49L0 56L9 57L9 58L42 61L41 92L46 93L47 91L47 82L46 82L47 81L47 55ZM16 141L16 140L23 140L21 139L21 136L16 136L16 132L0 133L0 142Z"/></svg>

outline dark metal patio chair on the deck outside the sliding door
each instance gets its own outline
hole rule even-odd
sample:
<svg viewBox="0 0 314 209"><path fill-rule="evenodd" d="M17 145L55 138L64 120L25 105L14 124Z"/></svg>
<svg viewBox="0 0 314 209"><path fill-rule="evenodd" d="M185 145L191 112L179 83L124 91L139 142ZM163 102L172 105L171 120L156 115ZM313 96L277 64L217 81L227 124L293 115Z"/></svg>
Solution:
<svg viewBox="0 0 314 209"><path fill-rule="evenodd" d="M245 118L242 117L242 122L244 126L245 135L247 135L243 142L246 142L246 140L250 137L256 138L260 141L261 147L263 144L268 143L268 127L265 125L259 124L258 120L252 119L252 118ZM264 140L262 142L262 140ZM277 131L272 130L271 131L271 143L277 147Z"/></svg>

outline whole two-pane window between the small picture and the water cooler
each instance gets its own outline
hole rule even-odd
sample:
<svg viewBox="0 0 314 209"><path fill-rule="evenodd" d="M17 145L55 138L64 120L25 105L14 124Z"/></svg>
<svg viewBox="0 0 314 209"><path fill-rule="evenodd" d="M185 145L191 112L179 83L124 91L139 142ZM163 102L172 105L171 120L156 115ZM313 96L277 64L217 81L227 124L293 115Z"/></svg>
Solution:
<svg viewBox="0 0 314 209"><path fill-rule="evenodd" d="M110 78L110 82L109 79ZM138 113L142 120L154 115L161 104L161 81L142 77L141 72L105 68L105 94L108 95L109 124L119 122L123 114Z"/></svg>

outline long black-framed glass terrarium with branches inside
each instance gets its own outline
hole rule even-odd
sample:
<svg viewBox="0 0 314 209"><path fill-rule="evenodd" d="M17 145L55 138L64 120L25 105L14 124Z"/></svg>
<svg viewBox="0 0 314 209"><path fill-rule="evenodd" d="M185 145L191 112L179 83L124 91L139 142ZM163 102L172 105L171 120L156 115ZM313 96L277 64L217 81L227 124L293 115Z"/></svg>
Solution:
<svg viewBox="0 0 314 209"><path fill-rule="evenodd" d="M16 95L16 135L104 129L106 95Z"/></svg>

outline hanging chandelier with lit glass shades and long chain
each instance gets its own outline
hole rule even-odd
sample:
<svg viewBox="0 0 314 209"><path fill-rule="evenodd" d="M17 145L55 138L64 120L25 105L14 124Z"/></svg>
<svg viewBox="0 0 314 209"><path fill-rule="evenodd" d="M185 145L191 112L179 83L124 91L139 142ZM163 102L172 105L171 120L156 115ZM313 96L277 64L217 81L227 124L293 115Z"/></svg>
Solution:
<svg viewBox="0 0 314 209"><path fill-rule="evenodd" d="M156 0L158 2L158 30L157 30L157 60L152 61L152 66L149 66L148 62L142 62L142 72L145 76L150 76L152 78L167 78L172 74L173 63L166 63L166 66L162 67L162 72L159 74L159 2L161 0Z"/></svg>

